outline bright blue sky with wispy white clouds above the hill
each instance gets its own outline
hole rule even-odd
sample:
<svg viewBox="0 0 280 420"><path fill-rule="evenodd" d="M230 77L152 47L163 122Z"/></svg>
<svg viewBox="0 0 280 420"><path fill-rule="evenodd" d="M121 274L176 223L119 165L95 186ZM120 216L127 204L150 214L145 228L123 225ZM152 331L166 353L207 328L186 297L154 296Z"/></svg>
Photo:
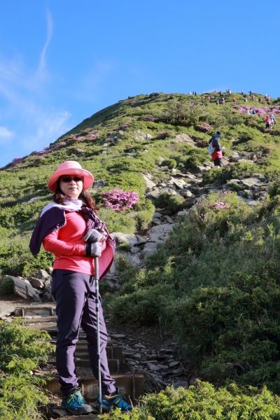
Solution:
<svg viewBox="0 0 280 420"><path fill-rule="evenodd" d="M0 167L147 92L280 96L280 2L0 1Z"/></svg>

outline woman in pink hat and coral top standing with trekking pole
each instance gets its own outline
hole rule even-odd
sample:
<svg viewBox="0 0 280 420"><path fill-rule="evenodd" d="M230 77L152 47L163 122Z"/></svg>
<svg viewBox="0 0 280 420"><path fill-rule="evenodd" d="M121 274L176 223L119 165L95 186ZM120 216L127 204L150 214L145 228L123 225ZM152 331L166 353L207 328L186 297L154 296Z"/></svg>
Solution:
<svg viewBox="0 0 280 420"><path fill-rule="evenodd" d="M45 251L55 255L52 271L52 295L57 303L56 361L61 384L62 409L71 414L92 412L83 400L74 363L74 351L80 327L87 336L90 364L98 378L97 311L94 283L94 257L99 257L99 276L109 271L116 248L115 239L97 217L98 207L86 190L94 182L90 172L78 162L66 161L57 167L48 180L54 195L43 208L31 236L29 248L33 255ZM120 407L132 409L119 395L109 372L106 356L108 339L99 298L100 360L102 407L104 411ZM96 406L99 407L97 400Z"/></svg>

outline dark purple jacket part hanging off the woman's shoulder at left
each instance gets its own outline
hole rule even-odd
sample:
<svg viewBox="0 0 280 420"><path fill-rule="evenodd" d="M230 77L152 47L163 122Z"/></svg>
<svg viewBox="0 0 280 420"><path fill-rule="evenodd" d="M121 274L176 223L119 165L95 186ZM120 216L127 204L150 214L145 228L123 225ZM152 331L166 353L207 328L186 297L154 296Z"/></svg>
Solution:
<svg viewBox="0 0 280 420"><path fill-rule="evenodd" d="M41 218L32 233L29 249L35 256L40 251L43 239L47 237L51 232L57 229L63 228L66 225L65 212L59 207L52 207L52 209L46 211Z"/></svg>

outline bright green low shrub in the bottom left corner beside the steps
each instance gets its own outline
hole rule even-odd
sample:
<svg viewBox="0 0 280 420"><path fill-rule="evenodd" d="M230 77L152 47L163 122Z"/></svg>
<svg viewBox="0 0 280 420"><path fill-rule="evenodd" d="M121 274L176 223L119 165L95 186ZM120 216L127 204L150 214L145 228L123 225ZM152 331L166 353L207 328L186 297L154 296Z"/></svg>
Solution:
<svg viewBox="0 0 280 420"><path fill-rule="evenodd" d="M38 358L47 360L50 343L46 339L50 336L45 331L22 328L19 323L20 319L0 321L0 418L7 420L41 418L38 405L48 402L42 389L48 378L31 375L30 370Z"/></svg>

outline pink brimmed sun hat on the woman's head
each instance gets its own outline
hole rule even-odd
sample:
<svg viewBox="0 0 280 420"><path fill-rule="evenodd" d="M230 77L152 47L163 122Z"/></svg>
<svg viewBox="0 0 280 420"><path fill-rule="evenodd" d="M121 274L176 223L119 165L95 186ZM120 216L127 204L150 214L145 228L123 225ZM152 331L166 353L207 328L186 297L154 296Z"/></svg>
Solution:
<svg viewBox="0 0 280 420"><path fill-rule="evenodd" d="M83 169L78 162L75 160L66 160L66 162L61 163L55 174L53 174L48 180L48 189L55 193L57 189L57 179L62 175L79 175L83 176L83 189L87 190L92 183L94 182L94 176L90 174L86 169Z"/></svg>

